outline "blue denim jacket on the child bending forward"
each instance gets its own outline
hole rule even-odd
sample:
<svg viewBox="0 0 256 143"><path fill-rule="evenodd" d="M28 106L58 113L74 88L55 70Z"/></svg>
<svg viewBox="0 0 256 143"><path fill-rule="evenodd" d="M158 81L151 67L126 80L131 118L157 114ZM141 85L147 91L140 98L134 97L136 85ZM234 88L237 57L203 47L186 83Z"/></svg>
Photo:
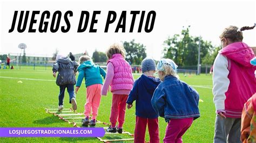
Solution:
<svg viewBox="0 0 256 143"><path fill-rule="evenodd" d="M198 102L198 92L171 75L165 76L151 100L154 110L166 122L170 119L197 119L200 117Z"/></svg>

